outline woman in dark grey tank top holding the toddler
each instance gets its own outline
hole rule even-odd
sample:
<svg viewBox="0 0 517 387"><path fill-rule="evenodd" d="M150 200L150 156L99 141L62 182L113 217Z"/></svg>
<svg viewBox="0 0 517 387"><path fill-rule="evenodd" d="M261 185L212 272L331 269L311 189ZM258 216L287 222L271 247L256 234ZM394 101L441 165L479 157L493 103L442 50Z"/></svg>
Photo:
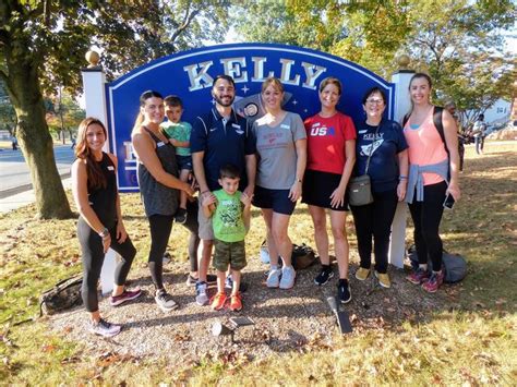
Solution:
<svg viewBox="0 0 517 387"><path fill-rule="evenodd" d="M163 280L163 259L178 209L179 191L192 195L192 188L178 179L176 150L161 134L159 124L165 118L164 98L157 92L145 92L140 97L140 114L131 135L139 159L137 177L145 215L149 221L149 270L156 289L155 301L167 312L178 307L167 293Z"/></svg>

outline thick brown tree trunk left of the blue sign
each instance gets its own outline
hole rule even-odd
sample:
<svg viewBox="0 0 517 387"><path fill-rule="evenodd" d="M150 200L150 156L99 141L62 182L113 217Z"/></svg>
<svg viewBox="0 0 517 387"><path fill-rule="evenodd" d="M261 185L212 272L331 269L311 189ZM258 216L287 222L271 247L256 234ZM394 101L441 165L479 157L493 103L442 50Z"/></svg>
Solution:
<svg viewBox="0 0 517 387"><path fill-rule="evenodd" d="M45 121L37 70L29 63L9 64L8 93L16 111L16 136L31 170L37 217L70 218L72 211L56 167L52 137Z"/></svg>

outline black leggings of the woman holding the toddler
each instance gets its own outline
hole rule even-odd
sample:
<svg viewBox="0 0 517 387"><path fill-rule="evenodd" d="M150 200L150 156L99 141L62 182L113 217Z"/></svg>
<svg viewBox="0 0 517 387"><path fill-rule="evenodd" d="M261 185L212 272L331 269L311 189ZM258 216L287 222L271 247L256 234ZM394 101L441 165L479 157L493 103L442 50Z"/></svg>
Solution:
<svg viewBox="0 0 517 387"><path fill-rule="evenodd" d="M155 288L164 289L164 254L172 231L173 215L152 215L148 217L151 229L149 270Z"/></svg>

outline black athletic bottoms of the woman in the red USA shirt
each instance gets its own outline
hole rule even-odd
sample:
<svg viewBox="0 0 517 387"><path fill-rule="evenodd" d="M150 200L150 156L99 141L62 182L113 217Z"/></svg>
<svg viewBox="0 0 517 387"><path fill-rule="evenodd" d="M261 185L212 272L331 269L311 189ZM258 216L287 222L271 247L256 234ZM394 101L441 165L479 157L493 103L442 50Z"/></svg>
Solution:
<svg viewBox="0 0 517 387"><path fill-rule="evenodd" d="M311 206L328 208L335 211L347 211L348 191L345 192L345 204L339 207L330 206L330 195L339 185L341 174L305 170L302 186L302 203Z"/></svg>

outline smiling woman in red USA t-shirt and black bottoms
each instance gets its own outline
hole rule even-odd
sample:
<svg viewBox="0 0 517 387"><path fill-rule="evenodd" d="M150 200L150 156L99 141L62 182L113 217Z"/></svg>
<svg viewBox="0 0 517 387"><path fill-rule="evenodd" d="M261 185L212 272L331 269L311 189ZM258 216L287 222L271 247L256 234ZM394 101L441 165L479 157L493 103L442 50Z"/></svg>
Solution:
<svg viewBox="0 0 517 387"><path fill-rule="evenodd" d="M309 205L314 222L314 239L322 262L322 269L314 282L325 285L334 271L328 256L326 209L330 215L332 233L339 268L338 299L351 300L348 283L348 239L346 218L348 180L356 161L356 130L350 117L336 108L341 96L339 80L327 77L320 84L321 111L305 120L308 137L308 165L303 179L302 202Z"/></svg>

